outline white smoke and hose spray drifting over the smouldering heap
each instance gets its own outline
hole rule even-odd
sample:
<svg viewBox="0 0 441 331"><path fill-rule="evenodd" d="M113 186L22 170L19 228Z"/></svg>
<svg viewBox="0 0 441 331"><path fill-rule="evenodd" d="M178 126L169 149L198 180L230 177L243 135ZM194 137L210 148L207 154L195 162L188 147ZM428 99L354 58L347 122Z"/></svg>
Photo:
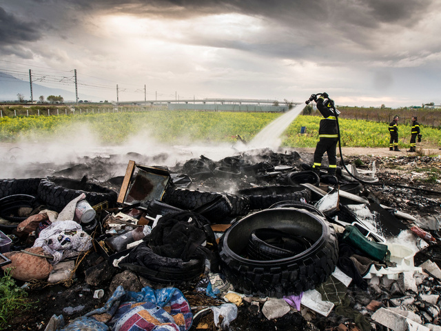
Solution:
<svg viewBox="0 0 441 331"><path fill-rule="evenodd" d="M18 143L0 143L2 167L0 178L31 178L48 176L90 177L106 181L123 176L130 160L141 165L163 165L169 168L202 155L219 161L247 152L254 154L263 148L277 150L280 136L296 119L303 106L298 105L269 123L256 137L245 144L185 143L168 145L154 139L149 129L127 132L130 138L121 144L104 144L91 123L71 123L54 129L41 138L41 132L28 132ZM111 128L106 128L112 134ZM101 132L102 134L102 132ZM255 152L252 152L252 151Z"/></svg>

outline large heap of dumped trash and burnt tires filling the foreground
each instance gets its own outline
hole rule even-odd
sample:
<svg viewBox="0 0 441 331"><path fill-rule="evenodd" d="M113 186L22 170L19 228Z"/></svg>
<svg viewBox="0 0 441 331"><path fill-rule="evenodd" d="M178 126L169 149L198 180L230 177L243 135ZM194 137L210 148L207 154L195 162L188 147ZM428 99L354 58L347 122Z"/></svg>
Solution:
<svg viewBox="0 0 441 331"><path fill-rule="evenodd" d="M440 214L384 205L378 167L254 150L3 179L0 267L76 298L39 330L441 330Z"/></svg>

